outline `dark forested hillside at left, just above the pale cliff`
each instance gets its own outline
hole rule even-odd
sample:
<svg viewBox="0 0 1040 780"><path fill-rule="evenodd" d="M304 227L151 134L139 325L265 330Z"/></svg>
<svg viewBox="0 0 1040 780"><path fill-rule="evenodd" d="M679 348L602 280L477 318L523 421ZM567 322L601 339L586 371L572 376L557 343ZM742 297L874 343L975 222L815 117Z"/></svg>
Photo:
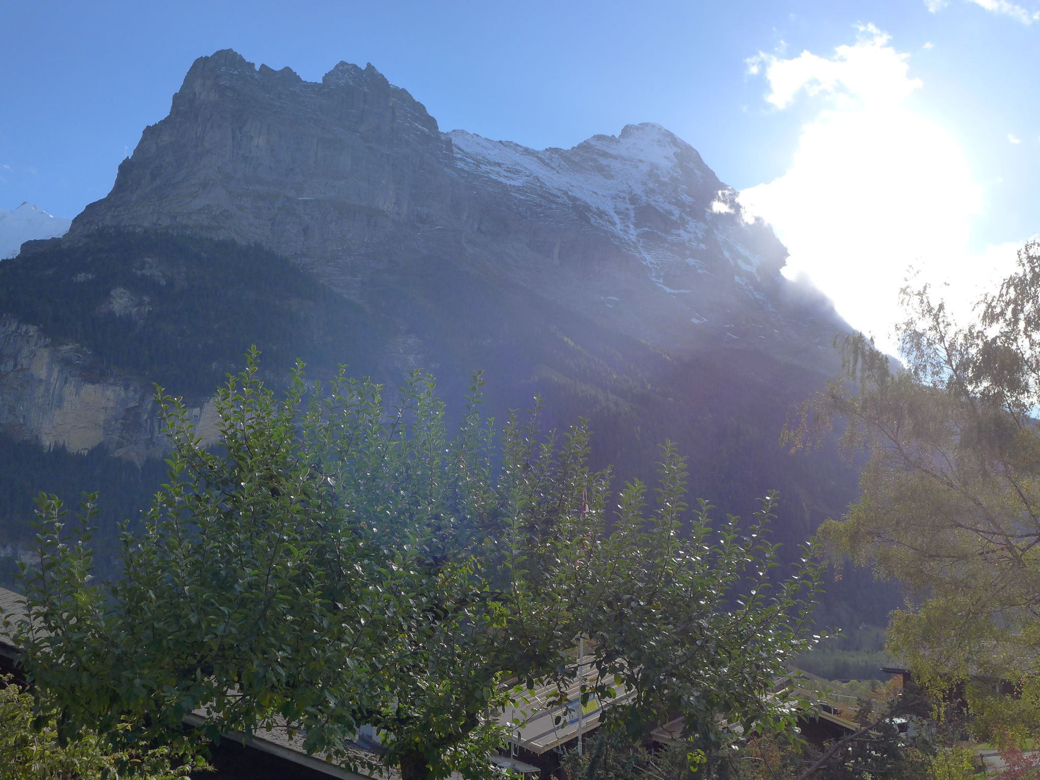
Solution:
<svg viewBox="0 0 1040 780"><path fill-rule="evenodd" d="M287 260L168 233L107 231L4 262L0 313L88 349L95 376L125 370L196 400L254 343L284 375L296 358L371 370L380 340L359 306Z"/></svg>

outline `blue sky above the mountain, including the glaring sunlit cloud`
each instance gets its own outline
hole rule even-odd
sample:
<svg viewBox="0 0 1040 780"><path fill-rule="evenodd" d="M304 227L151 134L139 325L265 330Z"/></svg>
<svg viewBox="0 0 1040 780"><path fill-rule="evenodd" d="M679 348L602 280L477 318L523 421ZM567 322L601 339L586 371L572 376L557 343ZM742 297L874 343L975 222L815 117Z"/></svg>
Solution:
<svg viewBox="0 0 1040 780"><path fill-rule="evenodd" d="M0 2L0 208L104 197L230 47L370 61L443 130L531 147L659 123L882 338L908 263L964 297L1040 231L1040 0Z"/></svg>

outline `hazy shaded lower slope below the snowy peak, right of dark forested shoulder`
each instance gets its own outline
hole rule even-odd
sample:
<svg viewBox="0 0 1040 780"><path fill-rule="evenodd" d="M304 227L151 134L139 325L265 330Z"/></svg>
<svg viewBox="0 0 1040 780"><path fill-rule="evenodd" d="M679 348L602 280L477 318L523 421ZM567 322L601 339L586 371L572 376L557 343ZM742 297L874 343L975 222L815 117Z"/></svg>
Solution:
<svg viewBox="0 0 1040 780"><path fill-rule="evenodd" d="M423 334L422 365L449 400L475 368L486 371L496 415L541 393L550 424L589 419L594 459L624 478L652 479L657 446L671 439L691 459L695 495L746 515L756 496L779 491L798 539L840 513L854 491L847 465L790 458L778 444L787 410L823 385L821 373L739 347L668 355L446 259L431 258L370 295L408 333Z"/></svg>

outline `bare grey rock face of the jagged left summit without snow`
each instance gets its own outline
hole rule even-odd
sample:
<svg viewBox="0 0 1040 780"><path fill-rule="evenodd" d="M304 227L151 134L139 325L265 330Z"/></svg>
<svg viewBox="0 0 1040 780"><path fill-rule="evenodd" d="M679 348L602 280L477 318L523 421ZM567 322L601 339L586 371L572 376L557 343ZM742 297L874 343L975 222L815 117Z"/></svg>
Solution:
<svg viewBox="0 0 1040 780"><path fill-rule="evenodd" d="M326 266L435 222L450 162L434 119L371 66L318 84L222 51L196 61L74 235L178 228Z"/></svg>

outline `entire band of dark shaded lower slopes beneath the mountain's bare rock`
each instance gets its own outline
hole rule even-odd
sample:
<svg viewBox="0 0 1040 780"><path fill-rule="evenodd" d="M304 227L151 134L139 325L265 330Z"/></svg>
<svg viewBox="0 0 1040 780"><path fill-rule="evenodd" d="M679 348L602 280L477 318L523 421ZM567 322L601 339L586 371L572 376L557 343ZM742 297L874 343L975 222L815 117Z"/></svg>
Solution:
<svg viewBox="0 0 1040 780"><path fill-rule="evenodd" d="M797 506L794 538L850 495L853 475L833 458L792 459L777 444L786 410L822 374L739 347L667 355L449 258L407 270L373 280L362 306L261 249L105 233L0 265L0 315L85 347L96 379L129 373L194 400L251 344L270 378L296 358L315 379L344 363L390 386L417 367L449 402L484 369L499 418L541 393L549 424L588 418L596 461L626 478L652 478L656 447L672 439L691 458L695 493L726 511L748 514L754 496L780 491Z"/></svg>

